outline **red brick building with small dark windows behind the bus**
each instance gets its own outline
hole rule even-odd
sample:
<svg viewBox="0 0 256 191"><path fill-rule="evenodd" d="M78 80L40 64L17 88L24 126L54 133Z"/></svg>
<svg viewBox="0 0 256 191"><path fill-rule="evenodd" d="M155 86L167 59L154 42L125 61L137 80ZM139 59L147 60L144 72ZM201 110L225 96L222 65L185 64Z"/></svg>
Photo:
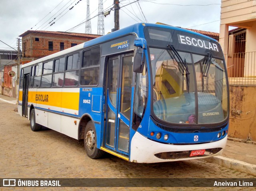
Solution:
<svg viewBox="0 0 256 191"><path fill-rule="evenodd" d="M22 37L22 64L76 46L101 35L28 30Z"/></svg>

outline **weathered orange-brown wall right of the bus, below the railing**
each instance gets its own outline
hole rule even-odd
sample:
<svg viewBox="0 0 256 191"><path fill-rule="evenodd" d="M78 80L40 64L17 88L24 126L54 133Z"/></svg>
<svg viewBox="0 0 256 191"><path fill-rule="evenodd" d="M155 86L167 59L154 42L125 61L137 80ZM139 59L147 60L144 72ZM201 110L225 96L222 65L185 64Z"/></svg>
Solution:
<svg viewBox="0 0 256 191"><path fill-rule="evenodd" d="M255 92L255 86L230 86L228 136L256 141Z"/></svg>

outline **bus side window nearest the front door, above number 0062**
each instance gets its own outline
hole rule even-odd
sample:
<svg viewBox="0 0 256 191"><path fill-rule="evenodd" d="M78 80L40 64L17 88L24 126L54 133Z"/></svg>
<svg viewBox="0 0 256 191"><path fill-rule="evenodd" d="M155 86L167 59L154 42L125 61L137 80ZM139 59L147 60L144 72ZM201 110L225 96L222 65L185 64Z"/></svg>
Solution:
<svg viewBox="0 0 256 191"><path fill-rule="evenodd" d="M100 47L87 50L83 53L83 62L80 76L82 86L97 85L100 74Z"/></svg>

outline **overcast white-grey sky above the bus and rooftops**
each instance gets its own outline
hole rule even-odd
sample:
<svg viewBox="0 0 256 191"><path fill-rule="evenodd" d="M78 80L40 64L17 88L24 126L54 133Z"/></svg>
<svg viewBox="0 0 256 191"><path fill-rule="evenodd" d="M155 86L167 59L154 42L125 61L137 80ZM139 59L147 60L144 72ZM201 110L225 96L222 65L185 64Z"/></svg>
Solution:
<svg viewBox="0 0 256 191"><path fill-rule="evenodd" d="M147 21L210 32L219 32L220 29L221 0L139 0L135 3L132 2L136 0L119 1L120 28ZM110 10L113 2L114 0L103 0L104 11ZM74 7L69 10L72 6ZM93 17L98 14L98 0L90 0L90 14L92 34L97 34L98 17ZM56 19L52 21L54 18ZM84 33L85 24L72 31L70 29L85 20L86 0L1 0L0 40L16 48L18 36L27 30ZM55 23L50 26L50 21L51 24ZM111 32L112 28L114 11L104 17L105 34ZM0 49L10 50L2 42Z"/></svg>

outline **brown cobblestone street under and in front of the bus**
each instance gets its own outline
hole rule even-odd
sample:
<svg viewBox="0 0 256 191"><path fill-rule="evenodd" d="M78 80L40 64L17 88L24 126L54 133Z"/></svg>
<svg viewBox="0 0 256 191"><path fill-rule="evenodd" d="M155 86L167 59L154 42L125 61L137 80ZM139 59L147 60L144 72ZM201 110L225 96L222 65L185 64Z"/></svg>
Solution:
<svg viewBox="0 0 256 191"><path fill-rule="evenodd" d="M130 163L112 155L90 159L84 143L53 130L33 132L29 121L0 101L0 178L255 178L204 160ZM0 188L13 190L14 188ZM35 190L35 188L15 188ZM37 190L255 190L255 187L36 188Z"/></svg>

